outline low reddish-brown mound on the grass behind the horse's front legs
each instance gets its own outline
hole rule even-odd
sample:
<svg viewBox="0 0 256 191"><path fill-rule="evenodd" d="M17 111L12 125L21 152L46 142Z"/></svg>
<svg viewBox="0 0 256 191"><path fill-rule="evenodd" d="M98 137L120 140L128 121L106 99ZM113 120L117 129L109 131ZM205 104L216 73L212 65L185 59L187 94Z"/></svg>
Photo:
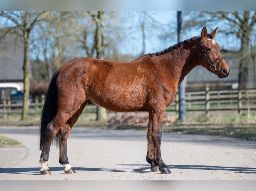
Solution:
<svg viewBox="0 0 256 191"><path fill-rule="evenodd" d="M170 115L164 115L163 124L169 125L176 121L176 119ZM148 126L148 116L134 116L129 113L124 115L116 115L111 117L106 125L117 125L117 126Z"/></svg>

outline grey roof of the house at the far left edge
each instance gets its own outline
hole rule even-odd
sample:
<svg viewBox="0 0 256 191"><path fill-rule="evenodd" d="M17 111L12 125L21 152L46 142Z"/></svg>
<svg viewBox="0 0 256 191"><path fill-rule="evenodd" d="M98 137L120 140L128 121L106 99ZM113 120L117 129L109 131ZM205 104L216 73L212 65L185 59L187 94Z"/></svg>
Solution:
<svg viewBox="0 0 256 191"><path fill-rule="evenodd" d="M22 38L0 29L0 81L23 81L24 46Z"/></svg>

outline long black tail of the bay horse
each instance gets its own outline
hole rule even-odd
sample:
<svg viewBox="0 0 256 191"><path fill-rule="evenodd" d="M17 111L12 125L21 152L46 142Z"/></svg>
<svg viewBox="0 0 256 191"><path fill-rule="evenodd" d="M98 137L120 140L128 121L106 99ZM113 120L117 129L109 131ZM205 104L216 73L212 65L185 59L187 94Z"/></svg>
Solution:
<svg viewBox="0 0 256 191"><path fill-rule="evenodd" d="M58 71L51 78L49 89L43 104L43 110L41 114L41 124L40 124L40 150L42 150L45 130L49 122L55 117L58 110L58 92L56 86L56 78L58 76ZM52 144L59 147L59 132L53 139Z"/></svg>

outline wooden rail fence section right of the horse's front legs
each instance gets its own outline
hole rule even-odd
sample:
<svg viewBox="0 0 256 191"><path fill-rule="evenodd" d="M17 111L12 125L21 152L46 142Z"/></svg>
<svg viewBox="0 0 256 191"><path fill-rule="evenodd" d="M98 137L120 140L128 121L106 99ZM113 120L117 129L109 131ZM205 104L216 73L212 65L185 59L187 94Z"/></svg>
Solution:
<svg viewBox="0 0 256 191"><path fill-rule="evenodd" d="M186 92L186 111L229 110L241 114L243 111L256 110L256 89L210 90ZM178 112L178 92L175 102L166 110Z"/></svg>

